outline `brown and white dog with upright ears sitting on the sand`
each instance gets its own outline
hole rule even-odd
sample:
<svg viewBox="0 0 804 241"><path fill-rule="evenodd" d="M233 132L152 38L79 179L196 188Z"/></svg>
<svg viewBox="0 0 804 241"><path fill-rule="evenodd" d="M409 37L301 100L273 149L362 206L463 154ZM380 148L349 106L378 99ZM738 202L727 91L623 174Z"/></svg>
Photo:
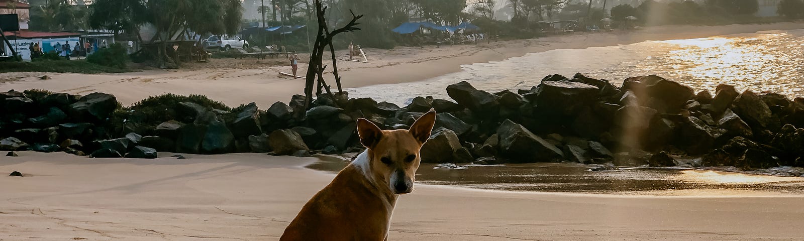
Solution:
<svg viewBox="0 0 804 241"><path fill-rule="evenodd" d="M434 111L408 130L380 130L371 121L357 120L366 151L310 198L279 240L388 239L396 198L412 192L419 149L435 121Z"/></svg>

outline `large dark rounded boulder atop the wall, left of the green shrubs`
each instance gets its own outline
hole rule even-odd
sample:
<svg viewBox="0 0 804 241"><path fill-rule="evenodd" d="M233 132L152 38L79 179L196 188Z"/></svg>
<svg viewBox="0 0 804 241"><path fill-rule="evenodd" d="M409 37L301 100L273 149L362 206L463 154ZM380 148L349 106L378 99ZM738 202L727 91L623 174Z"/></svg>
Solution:
<svg viewBox="0 0 804 241"><path fill-rule="evenodd" d="M106 120L117 108L117 98L113 95L94 92L81 97L78 102L70 104L68 112L73 119L82 122L100 122Z"/></svg>

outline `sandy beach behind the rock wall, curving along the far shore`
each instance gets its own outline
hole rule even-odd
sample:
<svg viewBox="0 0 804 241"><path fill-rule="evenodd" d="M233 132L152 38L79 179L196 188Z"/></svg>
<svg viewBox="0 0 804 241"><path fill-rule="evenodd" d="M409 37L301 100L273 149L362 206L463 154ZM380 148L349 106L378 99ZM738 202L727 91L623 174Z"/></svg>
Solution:
<svg viewBox="0 0 804 241"><path fill-rule="evenodd" d="M365 51L369 63L345 61L348 59L347 51L338 51L337 55L340 59L338 68L343 76L343 88L358 88L373 84L427 80L461 71L461 64L498 61L532 52L798 28L802 28L802 23L667 26L647 27L638 31L557 35L442 47L396 47L392 50L367 48ZM302 55L302 58L305 57ZM331 64L329 65L327 70L331 71ZM306 65L302 63L299 68L300 75L303 75ZM117 100L124 105L166 92L180 95L200 94L230 106L256 102L261 108L267 108L276 101L286 102L293 94L303 92L304 80L281 76L279 71L289 71L282 59L212 59L211 63L191 64L181 70L146 70L122 74L3 73L0 74L0 89L22 91L39 88L84 95L106 92L117 96ZM40 80L39 77L44 75L51 79ZM329 77L327 83L334 88L331 76Z"/></svg>

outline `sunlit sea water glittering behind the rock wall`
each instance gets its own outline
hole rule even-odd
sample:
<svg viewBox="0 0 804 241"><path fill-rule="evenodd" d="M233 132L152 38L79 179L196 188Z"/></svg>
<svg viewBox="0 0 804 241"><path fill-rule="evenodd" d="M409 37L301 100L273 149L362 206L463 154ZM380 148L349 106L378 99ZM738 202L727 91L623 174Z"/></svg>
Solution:
<svg viewBox="0 0 804 241"><path fill-rule="evenodd" d="M761 31L701 39L646 41L612 47L560 49L498 62L461 66L462 71L404 84L348 89L351 97L406 104L412 96L449 100L445 88L462 80L489 92L531 88L544 76L576 72L621 84L630 76L655 74L695 92L714 94L718 84L738 91L804 96L804 29Z"/></svg>

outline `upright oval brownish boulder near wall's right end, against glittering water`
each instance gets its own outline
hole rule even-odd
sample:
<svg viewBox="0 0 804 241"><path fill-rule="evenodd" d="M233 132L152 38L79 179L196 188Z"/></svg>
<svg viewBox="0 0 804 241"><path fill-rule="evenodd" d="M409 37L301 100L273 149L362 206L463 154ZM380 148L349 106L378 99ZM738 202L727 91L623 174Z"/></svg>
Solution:
<svg viewBox="0 0 804 241"><path fill-rule="evenodd" d="M743 92L734 99L733 104L733 111L749 125L763 129L773 126L773 123L771 123L773 113L770 112L768 105L753 92Z"/></svg>

